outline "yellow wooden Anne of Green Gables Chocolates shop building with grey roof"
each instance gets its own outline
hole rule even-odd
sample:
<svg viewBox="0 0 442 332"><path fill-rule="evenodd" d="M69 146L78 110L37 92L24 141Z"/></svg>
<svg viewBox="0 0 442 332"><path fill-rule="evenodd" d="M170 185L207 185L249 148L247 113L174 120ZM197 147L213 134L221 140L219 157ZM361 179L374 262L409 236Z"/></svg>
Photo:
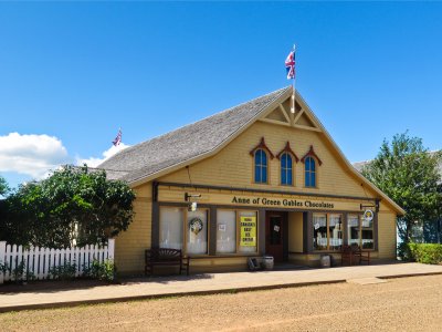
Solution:
<svg viewBox="0 0 442 332"><path fill-rule="evenodd" d="M403 209L351 166L298 93L291 112L292 94L275 91L99 166L137 195L135 220L116 239L120 272L141 272L150 247L182 249L193 272L244 270L263 255L316 266L351 243L396 258Z"/></svg>

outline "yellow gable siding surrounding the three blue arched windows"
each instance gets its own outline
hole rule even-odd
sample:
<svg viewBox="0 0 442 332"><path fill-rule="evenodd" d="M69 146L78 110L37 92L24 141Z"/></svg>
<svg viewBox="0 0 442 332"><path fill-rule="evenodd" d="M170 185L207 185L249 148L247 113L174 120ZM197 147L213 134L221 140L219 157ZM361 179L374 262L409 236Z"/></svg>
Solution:
<svg viewBox="0 0 442 332"><path fill-rule="evenodd" d="M313 145L323 162L322 166L316 165L317 188L304 187L304 164L301 162L294 165L296 185L281 186L277 158L269 160L269 184L254 184L253 157L249 152L260 143L261 137L265 138L274 154L282 151L287 141L298 156L305 155ZM322 133L263 122L256 122L215 156L191 165L189 170L194 184L372 197L372 193L368 188L364 189L360 181L345 169L340 157L332 153ZM189 175L187 169L180 169L159 180L189 183Z"/></svg>

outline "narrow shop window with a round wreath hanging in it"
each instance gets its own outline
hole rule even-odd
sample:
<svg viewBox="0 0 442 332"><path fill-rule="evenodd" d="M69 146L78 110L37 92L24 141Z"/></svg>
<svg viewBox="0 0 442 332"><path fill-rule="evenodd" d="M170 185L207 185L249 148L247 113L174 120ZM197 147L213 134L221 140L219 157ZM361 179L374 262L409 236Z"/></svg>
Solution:
<svg viewBox="0 0 442 332"><path fill-rule="evenodd" d="M187 252L208 252L208 210L189 211L187 215Z"/></svg>

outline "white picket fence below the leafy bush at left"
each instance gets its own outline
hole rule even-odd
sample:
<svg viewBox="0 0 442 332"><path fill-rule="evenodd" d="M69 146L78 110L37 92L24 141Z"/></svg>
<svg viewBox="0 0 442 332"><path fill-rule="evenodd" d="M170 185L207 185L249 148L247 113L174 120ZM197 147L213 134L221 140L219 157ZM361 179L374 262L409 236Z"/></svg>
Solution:
<svg viewBox="0 0 442 332"><path fill-rule="evenodd" d="M94 260L99 262L106 259L113 260L115 251L115 240L109 239L107 246L85 246L82 248L73 247L67 249L30 247L23 249L22 246L7 245L0 241L0 264L7 264L9 269L3 273L0 271L0 284L13 279L13 271L24 264L24 276L32 273L35 279L50 279L51 268L75 264L75 277L83 274L84 268L90 268Z"/></svg>

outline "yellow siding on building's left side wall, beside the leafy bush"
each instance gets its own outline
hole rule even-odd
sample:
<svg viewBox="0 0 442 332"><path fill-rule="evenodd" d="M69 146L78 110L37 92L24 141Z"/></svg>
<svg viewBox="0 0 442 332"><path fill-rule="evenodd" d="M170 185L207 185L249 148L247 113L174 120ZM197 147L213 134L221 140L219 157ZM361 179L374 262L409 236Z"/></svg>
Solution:
<svg viewBox="0 0 442 332"><path fill-rule="evenodd" d="M151 242L151 184L134 188L137 198L134 204L135 218L129 228L115 242L115 264L123 274L144 270L144 251Z"/></svg>

